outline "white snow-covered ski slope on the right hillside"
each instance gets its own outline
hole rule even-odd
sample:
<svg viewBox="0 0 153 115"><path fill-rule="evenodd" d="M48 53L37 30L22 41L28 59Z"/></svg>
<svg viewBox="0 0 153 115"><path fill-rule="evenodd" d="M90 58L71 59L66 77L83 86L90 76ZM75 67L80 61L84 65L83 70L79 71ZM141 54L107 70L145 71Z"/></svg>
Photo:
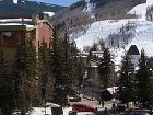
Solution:
<svg viewBox="0 0 153 115"><path fill-rule="evenodd" d="M91 26L84 33L71 34L71 38L75 36L76 46L83 50L84 46L92 46L94 43L104 39L108 45L108 36L111 34L119 34L120 41L123 41L120 33L123 26L133 25L132 36L128 44L120 44L120 48L111 48L115 53L115 60L118 64L123 55L125 49L128 50L131 45L137 45L139 51L143 48L148 56L153 56L153 22L146 21L146 9L153 4L153 0L146 0L146 3L138 4L131 9L128 14L136 14L138 19L122 19L122 20L106 20L97 21L91 24ZM125 32L123 34L127 34ZM125 49L122 48L125 47Z"/></svg>

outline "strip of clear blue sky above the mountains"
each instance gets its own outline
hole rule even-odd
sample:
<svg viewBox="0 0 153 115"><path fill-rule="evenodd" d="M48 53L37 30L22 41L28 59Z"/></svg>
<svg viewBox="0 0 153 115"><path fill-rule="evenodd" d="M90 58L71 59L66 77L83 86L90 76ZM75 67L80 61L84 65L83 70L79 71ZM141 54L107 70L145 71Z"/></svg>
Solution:
<svg viewBox="0 0 153 115"><path fill-rule="evenodd" d="M51 3L51 4L59 4L59 5L68 7L78 0L31 0L31 1L40 1L40 2Z"/></svg>

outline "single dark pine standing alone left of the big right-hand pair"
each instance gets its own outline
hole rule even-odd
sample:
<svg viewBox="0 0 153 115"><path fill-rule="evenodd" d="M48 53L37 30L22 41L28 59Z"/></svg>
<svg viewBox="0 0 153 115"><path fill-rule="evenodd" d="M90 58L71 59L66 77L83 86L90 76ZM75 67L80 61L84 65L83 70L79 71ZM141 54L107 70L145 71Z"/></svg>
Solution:
<svg viewBox="0 0 153 115"><path fill-rule="evenodd" d="M105 48L103 53L103 58L101 59L101 64L98 65L101 85L105 89L109 85L109 81L113 76L111 74L113 69L114 69L114 64L110 59L110 53L108 48Z"/></svg>

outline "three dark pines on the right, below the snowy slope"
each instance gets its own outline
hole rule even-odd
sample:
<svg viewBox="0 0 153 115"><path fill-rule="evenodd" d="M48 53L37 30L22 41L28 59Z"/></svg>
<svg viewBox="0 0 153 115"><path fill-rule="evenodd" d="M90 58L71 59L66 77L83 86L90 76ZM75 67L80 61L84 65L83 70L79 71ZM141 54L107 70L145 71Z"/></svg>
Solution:
<svg viewBox="0 0 153 115"><path fill-rule="evenodd" d="M129 107L129 102L138 103L139 107L150 108L153 105L153 73L149 58L142 49L138 70L131 62L131 57L125 54L120 70L115 78L114 62L108 48L104 49L98 65L99 83L103 89L110 87L111 79L117 79L117 93L114 95L120 103ZM111 76L113 74L113 76ZM113 84L111 84L113 85Z"/></svg>

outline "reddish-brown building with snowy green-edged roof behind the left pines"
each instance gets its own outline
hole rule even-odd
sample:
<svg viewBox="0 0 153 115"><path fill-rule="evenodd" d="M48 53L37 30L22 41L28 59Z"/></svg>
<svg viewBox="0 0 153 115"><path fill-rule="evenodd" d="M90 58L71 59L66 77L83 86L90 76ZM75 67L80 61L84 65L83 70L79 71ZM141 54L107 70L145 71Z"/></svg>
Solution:
<svg viewBox="0 0 153 115"><path fill-rule="evenodd" d="M45 41L49 48L51 35L52 25L47 20L39 20L36 14L32 15L32 19L0 20L0 39L7 65L9 67L13 65L16 47L21 39L32 38L36 49Z"/></svg>

